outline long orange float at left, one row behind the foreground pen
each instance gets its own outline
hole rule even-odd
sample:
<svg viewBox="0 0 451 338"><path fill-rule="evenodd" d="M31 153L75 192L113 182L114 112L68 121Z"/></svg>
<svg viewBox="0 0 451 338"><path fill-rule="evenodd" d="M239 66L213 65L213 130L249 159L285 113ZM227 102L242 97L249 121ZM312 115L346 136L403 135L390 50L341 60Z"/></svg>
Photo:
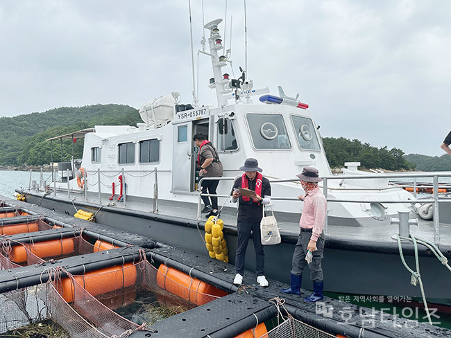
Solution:
<svg viewBox="0 0 451 338"><path fill-rule="evenodd" d="M14 263L26 262L26 249L39 258L65 255L74 252L74 238L48 240L34 244L15 245L11 248L9 259Z"/></svg>

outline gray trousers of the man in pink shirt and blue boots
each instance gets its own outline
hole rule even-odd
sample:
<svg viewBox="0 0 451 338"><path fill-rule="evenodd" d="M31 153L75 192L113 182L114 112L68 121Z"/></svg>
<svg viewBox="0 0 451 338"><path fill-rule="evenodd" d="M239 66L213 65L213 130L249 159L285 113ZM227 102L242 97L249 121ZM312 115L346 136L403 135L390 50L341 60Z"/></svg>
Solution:
<svg viewBox="0 0 451 338"><path fill-rule="evenodd" d="M311 232L301 231L299 234L298 242L293 253L293 266L291 268L291 274L300 276L303 274L303 270L307 266L307 244L309 244ZM316 251L314 251L312 263L309 264L310 279L312 281L323 281L323 268L321 267L321 260L323 260L324 252L324 234L321 234L318 241L316 241Z"/></svg>

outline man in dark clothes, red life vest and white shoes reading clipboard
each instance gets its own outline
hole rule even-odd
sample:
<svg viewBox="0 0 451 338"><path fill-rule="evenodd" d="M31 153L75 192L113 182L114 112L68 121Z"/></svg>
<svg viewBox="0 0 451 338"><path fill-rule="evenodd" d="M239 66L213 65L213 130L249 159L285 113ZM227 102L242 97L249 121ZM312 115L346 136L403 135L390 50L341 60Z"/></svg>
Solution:
<svg viewBox="0 0 451 338"><path fill-rule="evenodd" d="M263 217L263 204L271 202L271 184L260 172L256 159L246 159L244 166L239 168L244 174L235 180L232 190L232 202L238 205L238 245L235 258L237 274L234 284L241 285L244 275L244 260L250 233L253 233L255 248L255 267L257 269L257 283L262 287L268 286L268 281L264 276L264 251L260 235L260 222ZM243 196L238 188L248 188L255 191L254 195Z"/></svg>

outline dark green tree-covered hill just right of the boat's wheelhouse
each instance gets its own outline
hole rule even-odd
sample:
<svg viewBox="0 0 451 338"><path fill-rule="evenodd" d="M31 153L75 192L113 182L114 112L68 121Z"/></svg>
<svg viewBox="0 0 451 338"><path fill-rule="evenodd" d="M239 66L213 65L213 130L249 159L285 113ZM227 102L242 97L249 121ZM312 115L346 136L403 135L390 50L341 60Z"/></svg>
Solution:
<svg viewBox="0 0 451 338"><path fill-rule="evenodd" d="M343 167L345 162L360 162L361 168L384 170L414 170L415 166L404 158L398 148L376 148L369 143L361 143L344 137L324 137L323 144L327 161L332 168Z"/></svg>

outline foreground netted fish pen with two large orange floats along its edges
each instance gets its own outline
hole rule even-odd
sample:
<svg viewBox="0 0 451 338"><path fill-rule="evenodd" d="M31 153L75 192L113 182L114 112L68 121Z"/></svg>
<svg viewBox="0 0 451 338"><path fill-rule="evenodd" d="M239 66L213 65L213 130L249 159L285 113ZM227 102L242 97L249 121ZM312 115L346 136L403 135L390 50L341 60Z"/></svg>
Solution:
<svg viewBox="0 0 451 338"><path fill-rule="evenodd" d="M1 334L51 320L70 337L119 336L228 294L145 259L78 276L49 273L47 283L0 294Z"/></svg>

